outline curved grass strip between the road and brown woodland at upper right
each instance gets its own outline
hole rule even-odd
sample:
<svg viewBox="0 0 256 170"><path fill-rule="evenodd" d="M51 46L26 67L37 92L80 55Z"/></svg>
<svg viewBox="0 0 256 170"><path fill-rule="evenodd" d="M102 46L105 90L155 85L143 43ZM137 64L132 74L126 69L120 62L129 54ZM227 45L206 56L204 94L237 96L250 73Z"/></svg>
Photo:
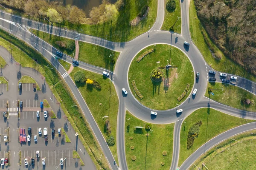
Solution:
<svg viewBox="0 0 256 170"><path fill-rule="evenodd" d="M221 60L214 59L212 57L211 52L209 51L207 43L204 41L204 37L203 34L201 33L201 30L204 30L204 32L206 32L204 27L201 25L200 20L197 17L194 1L191 0L189 6L189 31L191 34L192 41L198 47L199 51L204 56L206 62L217 71L235 74L256 82L256 77L253 76L253 74L248 73L244 68L230 60L228 57L222 55ZM211 42L208 36L207 39L212 44L212 46L215 47L216 51L220 51L217 48L217 46Z"/></svg>

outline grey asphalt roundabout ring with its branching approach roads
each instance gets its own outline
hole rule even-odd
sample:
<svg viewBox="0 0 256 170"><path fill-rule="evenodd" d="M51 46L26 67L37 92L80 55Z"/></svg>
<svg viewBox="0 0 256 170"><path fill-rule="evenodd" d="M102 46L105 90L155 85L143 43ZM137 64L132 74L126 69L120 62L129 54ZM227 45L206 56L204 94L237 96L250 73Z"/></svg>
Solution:
<svg viewBox="0 0 256 170"><path fill-rule="evenodd" d="M204 93L207 87L207 81L209 79L208 71L212 68L207 65L207 63L204 61L203 56L201 55L198 48L192 43L191 37L189 34L189 10L188 10L188 3L187 1L181 1L181 13L182 13L182 34L176 34L169 31L154 31L159 30L161 25L163 24L163 17L164 17L164 5L163 0L158 1L158 10L157 10L157 22L152 26L150 29L152 32L146 32L139 37L134 38L134 40L131 40L129 42L122 42L122 43L115 43L110 42L107 40L103 40L99 37L93 37L90 35L80 34L80 41L83 42L89 42L96 45L101 45L106 48L110 48L112 50L116 51L122 51L122 53L119 56L119 59L116 62L116 68L114 73L111 73L110 79L112 79L113 74L115 74L114 79L114 85L119 97L119 113L118 113L118 131L117 131L117 145L118 145L118 157L119 157L119 163L120 168L122 170L128 169L126 165L126 159L125 159L125 146L124 146L124 123L125 123L125 108L127 108L131 113L133 113L135 116L137 116L140 119L143 119L147 122L152 123L171 123L171 122L179 122L175 125L175 140L174 140L174 152L173 152L173 162L172 162L172 168L175 169L177 167L177 161L178 161L178 153L179 153L179 132L180 132L180 126L181 122L186 116L191 114L193 111L195 111L198 108L202 107L210 107L215 108L219 111L222 111L224 113L243 117L247 119L255 119L254 114L246 111L237 110L234 108L230 108L227 105L222 105L218 102L209 101L209 99L204 97ZM7 31L10 31L11 34L19 37L20 39L24 40L28 44L32 45L35 49L37 49L41 54L43 54L52 64L54 67L60 72L60 74L64 74L66 71L64 71L64 68L55 60L54 54L56 53L56 49L53 48L51 45L47 44L43 40L39 39L38 37L35 37L34 35L30 34L28 32L29 28L35 28L41 31L45 31L51 34L59 35L62 37L67 37L71 39L75 39L76 32L74 31L66 31L61 28L56 28L51 25L45 25L42 23L30 21L27 19L22 19L20 17L11 16L9 14L1 13L0 19L2 20L0 22L0 25L2 28L5 28ZM190 47L187 48L183 45L183 42L187 41L190 44ZM134 96L131 93L131 89L128 86L128 68L129 65L134 58L134 56L141 51L143 48L147 47L148 45L157 44L157 43L165 43L172 46L175 46L179 48L181 51L183 51L192 62L194 72L200 72L200 79L198 81L195 81L194 87L197 88L198 92L195 97L192 97L189 101L186 100L183 102L183 104L179 105L177 108L170 109L168 111L157 111L158 115L157 117L151 117L150 111L152 109L149 109L138 102ZM64 60L67 62L72 62L72 58L64 55ZM104 68L95 67L93 65L89 65L83 62L79 62L79 67L94 71L96 73L102 74L102 71L105 70ZM215 75L215 77L219 77L219 72ZM230 75L228 75L230 76ZM90 125L96 135L96 138L98 139L100 145L102 146L102 149L105 153L105 156L107 157L109 163L111 164L111 167L113 169L116 169L116 165L113 164L113 156L111 155L111 152L105 143L105 139L103 138L99 128L97 127L93 116L90 114L89 109L87 108L84 99L82 98L81 94L77 90L75 84L72 82L69 76L65 78L65 81L69 85L71 91L73 92L74 96L79 102L79 105L81 106L87 120L90 122ZM221 81L221 79L218 79L218 81ZM252 82L250 80L244 79L242 77L238 77L237 86L246 89L247 91L250 91L253 94L256 94L255 88L256 83ZM121 89L125 88L128 90L128 95L123 96ZM189 94L191 95L191 94ZM176 114L176 109L183 109L182 114ZM172 169L171 168L171 169Z"/></svg>

